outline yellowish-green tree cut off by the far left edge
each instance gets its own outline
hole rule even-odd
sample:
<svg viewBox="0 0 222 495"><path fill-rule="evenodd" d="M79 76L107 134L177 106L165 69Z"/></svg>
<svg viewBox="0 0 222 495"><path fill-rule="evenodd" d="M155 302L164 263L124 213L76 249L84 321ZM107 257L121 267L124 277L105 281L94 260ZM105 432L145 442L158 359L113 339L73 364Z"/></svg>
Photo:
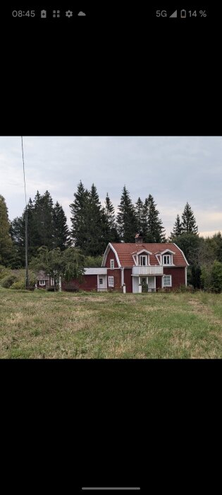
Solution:
<svg viewBox="0 0 222 495"><path fill-rule="evenodd" d="M10 222L6 200L0 194L0 264L10 265L13 243L10 235Z"/></svg>

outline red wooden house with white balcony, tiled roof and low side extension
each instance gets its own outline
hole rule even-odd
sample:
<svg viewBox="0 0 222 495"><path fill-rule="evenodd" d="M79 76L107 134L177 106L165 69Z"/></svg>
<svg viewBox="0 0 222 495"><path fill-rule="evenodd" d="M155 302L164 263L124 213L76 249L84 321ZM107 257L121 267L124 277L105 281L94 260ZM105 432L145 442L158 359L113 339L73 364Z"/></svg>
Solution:
<svg viewBox="0 0 222 495"><path fill-rule="evenodd" d="M147 291L175 289L187 285L187 260L175 243L142 242L135 236L135 243L109 243L101 268L86 268L80 289L107 291L122 289L137 293L142 285ZM65 284L62 284L65 289Z"/></svg>

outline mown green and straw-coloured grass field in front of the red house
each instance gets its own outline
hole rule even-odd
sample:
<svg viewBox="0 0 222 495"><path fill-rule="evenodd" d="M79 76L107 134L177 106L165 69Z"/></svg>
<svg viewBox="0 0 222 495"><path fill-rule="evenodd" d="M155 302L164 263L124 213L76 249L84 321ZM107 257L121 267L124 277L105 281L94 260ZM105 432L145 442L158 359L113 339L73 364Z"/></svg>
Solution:
<svg viewBox="0 0 222 495"><path fill-rule="evenodd" d="M221 358L222 294L0 289L0 358Z"/></svg>

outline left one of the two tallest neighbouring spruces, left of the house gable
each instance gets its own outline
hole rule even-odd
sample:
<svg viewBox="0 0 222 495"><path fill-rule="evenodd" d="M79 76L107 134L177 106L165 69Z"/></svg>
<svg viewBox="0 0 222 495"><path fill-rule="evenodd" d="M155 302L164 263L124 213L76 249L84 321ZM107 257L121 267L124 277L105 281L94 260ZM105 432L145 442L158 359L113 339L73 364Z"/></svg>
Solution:
<svg viewBox="0 0 222 495"><path fill-rule="evenodd" d="M89 204L89 192L85 189L80 180L77 192L74 193L74 202L70 204L72 222L71 238L75 246L85 251L87 244L87 214Z"/></svg>

